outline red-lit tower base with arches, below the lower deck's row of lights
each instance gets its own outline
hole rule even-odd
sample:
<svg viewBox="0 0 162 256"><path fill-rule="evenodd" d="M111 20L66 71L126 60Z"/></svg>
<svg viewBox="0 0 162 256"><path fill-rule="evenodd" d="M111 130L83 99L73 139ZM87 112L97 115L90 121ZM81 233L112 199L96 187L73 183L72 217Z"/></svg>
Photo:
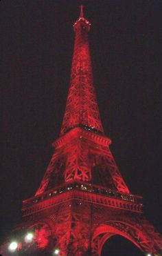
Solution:
<svg viewBox="0 0 162 256"><path fill-rule="evenodd" d="M59 248L60 256L83 256L88 252L100 256L104 242L112 235L125 237L143 253L158 255L162 250L161 236L141 213L101 206L77 198L77 193L75 195L75 199L73 196L67 201L62 199L51 208L49 203L49 208L23 219L23 228L25 225L38 226L39 223L49 226L50 237L44 248L47 252L51 244L52 250ZM36 246L40 245L40 242L36 243Z"/></svg>

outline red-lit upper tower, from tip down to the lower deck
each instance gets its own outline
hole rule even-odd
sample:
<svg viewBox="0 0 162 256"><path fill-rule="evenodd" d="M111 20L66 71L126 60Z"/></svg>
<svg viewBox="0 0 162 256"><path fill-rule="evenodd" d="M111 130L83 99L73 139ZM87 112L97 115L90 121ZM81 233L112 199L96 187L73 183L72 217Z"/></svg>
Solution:
<svg viewBox="0 0 162 256"><path fill-rule="evenodd" d="M97 182L129 193L108 148L111 140L104 137L100 120L89 53L90 26L80 12L73 25L75 43L71 82L61 137L54 143L54 155L36 195L62 182L62 177L64 181Z"/></svg>

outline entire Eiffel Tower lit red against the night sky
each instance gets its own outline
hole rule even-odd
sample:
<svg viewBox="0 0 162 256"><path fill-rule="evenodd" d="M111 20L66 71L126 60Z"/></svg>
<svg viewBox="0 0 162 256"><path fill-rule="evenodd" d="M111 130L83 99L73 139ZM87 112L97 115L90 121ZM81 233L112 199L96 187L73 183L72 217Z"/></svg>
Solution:
<svg viewBox="0 0 162 256"><path fill-rule="evenodd" d="M126 186L109 149L111 139L104 135L93 86L90 26L81 6L73 24L75 45L60 137L36 194L23 201L23 222L15 232L32 230L34 238L30 244L21 240L19 250L30 250L27 255L41 250L45 255L51 250L60 256L101 255L106 239L121 235L143 253L161 255L161 236L144 217L142 198Z"/></svg>

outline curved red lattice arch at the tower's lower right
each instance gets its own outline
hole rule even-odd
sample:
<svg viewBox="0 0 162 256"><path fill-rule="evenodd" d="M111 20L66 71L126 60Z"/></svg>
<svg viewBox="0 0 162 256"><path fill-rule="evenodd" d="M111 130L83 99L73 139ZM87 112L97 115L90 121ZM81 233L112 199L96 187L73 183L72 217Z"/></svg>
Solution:
<svg viewBox="0 0 162 256"><path fill-rule="evenodd" d="M157 255L162 248L158 240L161 238L156 238L157 233L155 231L149 233L147 230L143 230L142 224L141 226L139 225L139 228L135 228L135 224L134 226L130 226L126 221L125 223L108 222L107 224L101 224L97 230L95 230L92 242L93 254L101 255L104 243L113 235L121 235L122 237L125 237L143 251L143 253L150 252Z"/></svg>

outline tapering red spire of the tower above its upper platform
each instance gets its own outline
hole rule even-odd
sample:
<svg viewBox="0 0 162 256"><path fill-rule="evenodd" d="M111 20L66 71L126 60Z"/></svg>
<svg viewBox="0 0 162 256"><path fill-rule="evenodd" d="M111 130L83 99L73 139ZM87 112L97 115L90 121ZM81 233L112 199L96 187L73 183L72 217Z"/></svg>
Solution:
<svg viewBox="0 0 162 256"><path fill-rule="evenodd" d="M75 43L71 78L60 135L75 127L104 134L93 85L88 41L90 26L91 23L83 16L83 6L81 5L80 17L73 24Z"/></svg>

